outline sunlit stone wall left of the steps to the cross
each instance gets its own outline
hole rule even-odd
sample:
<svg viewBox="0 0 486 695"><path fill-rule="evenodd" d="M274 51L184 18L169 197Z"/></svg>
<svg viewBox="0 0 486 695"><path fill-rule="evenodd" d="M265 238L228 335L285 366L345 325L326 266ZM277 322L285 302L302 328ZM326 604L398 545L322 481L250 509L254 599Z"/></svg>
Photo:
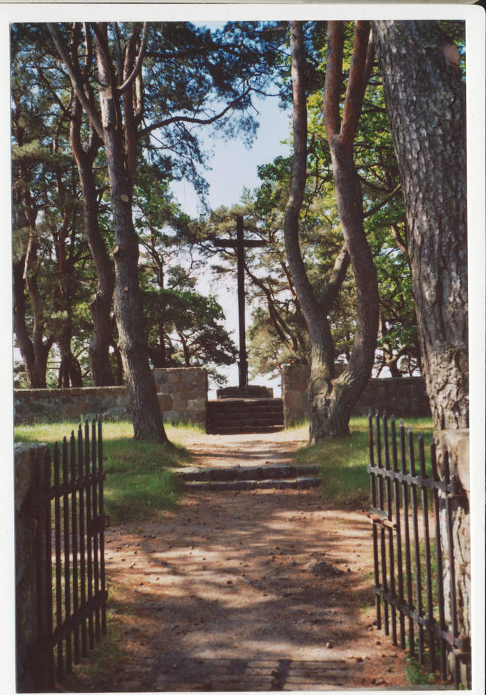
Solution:
<svg viewBox="0 0 486 695"><path fill-rule="evenodd" d="M206 424L208 373L203 367L154 369L158 401L165 423ZM84 389L15 389L15 423L37 420L91 419L103 415L130 420L125 386L91 386Z"/></svg>

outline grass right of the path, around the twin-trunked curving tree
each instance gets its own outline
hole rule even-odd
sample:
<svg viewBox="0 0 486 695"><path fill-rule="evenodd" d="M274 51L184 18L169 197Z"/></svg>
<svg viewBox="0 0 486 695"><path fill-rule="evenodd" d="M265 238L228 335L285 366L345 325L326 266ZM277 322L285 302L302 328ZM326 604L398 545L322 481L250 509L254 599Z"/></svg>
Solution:
<svg viewBox="0 0 486 695"><path fill-rule="evenodd" d="M409 418L405 427L412 426L414 434L433 432L429 418ZM314 464L321 467L324 484L321 494L333 507L356 509L369 507L371 489L367 464L368 418L351 418L351 434L306 446L295 453L299 464Z"/></svg>

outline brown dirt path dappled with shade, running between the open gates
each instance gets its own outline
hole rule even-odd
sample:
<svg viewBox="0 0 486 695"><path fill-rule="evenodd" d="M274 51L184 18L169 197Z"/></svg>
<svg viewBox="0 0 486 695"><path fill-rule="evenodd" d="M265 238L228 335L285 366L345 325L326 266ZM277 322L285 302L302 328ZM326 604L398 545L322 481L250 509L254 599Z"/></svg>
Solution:
<svg viewBox="0 0 486 695"><path fill-rule="evenodd" d="M196 466L284 463L302 435L192 435ZM271 441L274 440L274 441ZM376 631L363 513L316 490L189 493L106 532L117 673L91 692L388 689L403 654Z"/></svg>

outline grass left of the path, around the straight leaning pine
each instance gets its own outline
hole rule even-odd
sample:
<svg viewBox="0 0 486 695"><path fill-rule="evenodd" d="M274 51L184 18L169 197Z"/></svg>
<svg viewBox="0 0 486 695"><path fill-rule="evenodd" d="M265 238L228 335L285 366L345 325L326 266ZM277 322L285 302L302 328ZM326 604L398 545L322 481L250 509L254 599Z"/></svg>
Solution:
<svg viewBox="0 0 486 695"><path fill-rule="evenodd" d="M62 438L74 434L73 423L40 423L15 427L15 441L47 443L51 448ZM181 496L181 483L170 468L190 459L181 443L192 428L167 427L176 451L153 442L133 439L131 423L103 423L103 468L105 512L111 521L134 521L160 509L173 509Z"/></svg>

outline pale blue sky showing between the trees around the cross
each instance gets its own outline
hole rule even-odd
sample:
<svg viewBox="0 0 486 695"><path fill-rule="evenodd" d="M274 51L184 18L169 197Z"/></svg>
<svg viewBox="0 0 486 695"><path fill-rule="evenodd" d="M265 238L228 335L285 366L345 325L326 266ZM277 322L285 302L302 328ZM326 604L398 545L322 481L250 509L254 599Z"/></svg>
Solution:
<svg viewBox="0 0 486 695"><path fill-rule="evenodd" d="M221 205L231 207L240 202L244 188L253 190L260 185L257 167L261 164L271 163L276 156L287 156L290 145L282 142L290 136L291 111L282 111L278 107L278 97L267 97L264 101L256 101L260 111L260 126L257 138L253 141L251 149L246 149L241 140L214 140L214 154L210 171L204 172L210 185L208 202L215 210ZM206 147L210 145L206 142ZM199 213L199 198L194 189L185 181L172 183L171 190L183 211L192 217ZM210 278L203 276L198 283L198 289L202 294L215 294L219 304L224 309L226 316L225 326L228 331L233 331L233 341L238 345L238 306L236 282L232 289L222 286L212 286ZM251 323L251 307L246 309L246 328ZM229 368L219 368L221 373L228 376L228 386L237 386L238 368L232 365ZM251 379L251 384L270 386L274 389L274 395L280 396L280 379L269 380L267 377ZM216 398L215 389L211 389L209 398Z"/></svg>

